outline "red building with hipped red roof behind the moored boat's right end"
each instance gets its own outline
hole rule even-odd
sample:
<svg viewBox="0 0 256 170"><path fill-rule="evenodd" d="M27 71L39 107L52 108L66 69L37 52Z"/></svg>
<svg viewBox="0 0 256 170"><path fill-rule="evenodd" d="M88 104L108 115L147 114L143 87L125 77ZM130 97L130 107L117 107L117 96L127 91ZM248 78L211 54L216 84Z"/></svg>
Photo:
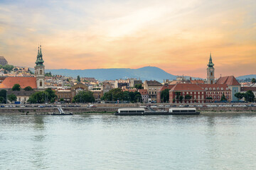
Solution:
<svg viewBox="0 0 256 170"><path fill-rule="evenodd" d="M176 84L169 91L169 102L204 103L205 96L206 91L198 84Z"/></svg>

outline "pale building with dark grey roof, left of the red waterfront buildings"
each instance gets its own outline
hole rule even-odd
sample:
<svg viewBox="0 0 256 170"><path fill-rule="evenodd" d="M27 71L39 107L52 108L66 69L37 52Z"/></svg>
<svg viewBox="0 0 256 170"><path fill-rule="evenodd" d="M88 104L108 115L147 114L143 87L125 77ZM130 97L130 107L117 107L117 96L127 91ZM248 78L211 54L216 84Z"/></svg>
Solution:
<svg viewBox="0 0 256 170"><path fill-rule="evenodd" d="M159 81L156 80L146 80L144 81L143 87L149 93L149 103L156 103L157 91L160 91L161 86L163 86Z"/></svg>

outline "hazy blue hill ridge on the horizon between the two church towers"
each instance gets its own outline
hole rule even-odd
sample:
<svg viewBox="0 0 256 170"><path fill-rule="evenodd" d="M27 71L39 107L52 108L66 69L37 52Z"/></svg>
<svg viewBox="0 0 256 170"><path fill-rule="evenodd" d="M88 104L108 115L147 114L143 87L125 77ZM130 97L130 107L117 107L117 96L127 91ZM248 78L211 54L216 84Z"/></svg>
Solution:
<svg viewBox="0 0 256 170"><path fill-rule="evenodd" d="M33 69L31 68L33 72ZM95 77L95 79L103 80L115 80L115 79L127 79L137 78L142 81L145 80L156 80L163 82L164 79L173 80L177 76L165 72L163 69L158 67L142 67L139 69L46 69L46 72L52 74L63 75L66 77ZM189 77L186 77L189 79ZM192 79L200 79L194 78Z"/></svg>

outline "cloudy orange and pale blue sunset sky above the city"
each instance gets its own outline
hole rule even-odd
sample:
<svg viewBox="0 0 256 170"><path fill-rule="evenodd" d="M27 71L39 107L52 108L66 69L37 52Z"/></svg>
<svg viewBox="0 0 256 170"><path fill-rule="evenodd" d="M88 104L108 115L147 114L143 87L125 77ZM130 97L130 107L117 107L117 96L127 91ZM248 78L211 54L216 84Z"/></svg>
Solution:
<svg viewBox="0 0 256 170"><path fill-rule="evenodd" d="M0 0L0 56L46 69L154 66L206 78L256 74L255 0Z"/></svg>

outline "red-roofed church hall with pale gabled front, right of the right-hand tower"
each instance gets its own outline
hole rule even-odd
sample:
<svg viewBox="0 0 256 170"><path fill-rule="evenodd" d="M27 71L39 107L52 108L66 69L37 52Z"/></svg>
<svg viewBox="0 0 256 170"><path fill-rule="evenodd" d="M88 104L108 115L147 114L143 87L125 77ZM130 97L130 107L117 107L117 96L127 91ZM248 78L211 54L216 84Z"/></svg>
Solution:
<svg viewBox="0 0 256 170"><path fill-rule="evenodd" d="M220 77L216 81L216 84L226 84L231 90L231 101L238 101L238 98L235 97L235 94L241 91L241 86L234 76Z"/></svg>

